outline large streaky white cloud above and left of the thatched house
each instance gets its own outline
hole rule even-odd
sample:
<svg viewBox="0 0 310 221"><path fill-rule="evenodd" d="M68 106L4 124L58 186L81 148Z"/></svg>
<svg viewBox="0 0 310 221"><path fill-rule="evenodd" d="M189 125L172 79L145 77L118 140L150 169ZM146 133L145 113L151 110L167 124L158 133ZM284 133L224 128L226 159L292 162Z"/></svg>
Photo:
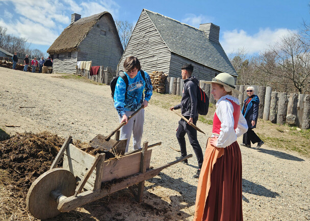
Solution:
<svg viewBox="0 0 310 221"><path fill-rule="evenodd" d="M29 43L47 46L70 24L72 13L88 17L108 11L114 17L118 15L120 8L113 0L93 0L80 5L74 0L42 1L39 4L34 1L0 0L0 4L5 4L14 11L14 14L11 14L5 9L7 14L0 19L0 25L8 28L8 34L29 39ZM17 19L12 20L10 16Z"/></svg>

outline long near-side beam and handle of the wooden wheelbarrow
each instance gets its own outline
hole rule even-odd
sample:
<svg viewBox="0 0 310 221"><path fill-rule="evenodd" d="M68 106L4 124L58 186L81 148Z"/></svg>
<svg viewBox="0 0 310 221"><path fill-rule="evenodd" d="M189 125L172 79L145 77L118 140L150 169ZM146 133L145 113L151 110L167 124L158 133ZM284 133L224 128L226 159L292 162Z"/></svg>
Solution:
<svg viewBox="0 0 310 221"><path fill-rule="evenodd" d="M190 157L192 157L192 154L187 155L184 158L175 160L173 162L169 162L161 167L155 168L155 169L149 169L146 170L146 172L144 174L139 173L136 174L130 178L124 179L122 181L119 181L117 183L115 183L114 185L110 186L109 188L105 188L105 189L98 189L95 191L85 191L85 192L81 192L81 194L78 194L77 197L67 197L67 198L63 198L60 203L58 204L57 209L61 212L68 212L70 210L76 209L77 207L81 207L87 203L93 202L95 200L98 200L102 197L108 196L109 194L113 194L116 191L119 191L121 189L124 189L128 186L132 186L136 183L139 183L143 180L148 180L154 176L157 176L162 170L164 170L167 167L170 167L171 165L181 162L185 159L188 159Z"/></svg>

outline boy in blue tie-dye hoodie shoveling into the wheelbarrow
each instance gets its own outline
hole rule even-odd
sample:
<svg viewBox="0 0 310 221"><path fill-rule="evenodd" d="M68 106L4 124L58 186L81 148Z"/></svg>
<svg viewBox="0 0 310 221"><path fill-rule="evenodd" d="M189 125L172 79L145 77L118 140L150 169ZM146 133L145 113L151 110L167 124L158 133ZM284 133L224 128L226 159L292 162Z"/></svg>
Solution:
<svg viewBox="0 0 310 221"><path fill-rule="evenodd" d="M138 58L128 57L124 61L124 74L128 79L128 88L125 81L119 77L116 82L114 92L114 107L117 110L120 123L126 124L120 129L120 140L127 139L126 150L133 133L134 150L141 148L141 140L144 124L144 109L141 109L130 121L128 117L134 113L141 105L147 107L152 96L152 84L150 77L144 71L144 79L141 75L141 66ZM145 90L144 100L143 91Z"/></svg>

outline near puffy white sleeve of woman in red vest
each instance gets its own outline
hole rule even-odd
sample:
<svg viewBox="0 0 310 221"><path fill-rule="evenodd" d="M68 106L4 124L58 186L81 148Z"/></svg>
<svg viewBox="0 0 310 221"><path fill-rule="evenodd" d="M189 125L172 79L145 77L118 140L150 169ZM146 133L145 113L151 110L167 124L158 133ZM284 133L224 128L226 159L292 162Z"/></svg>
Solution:
<svg viewBox="0 0 310 221"><path fill-rule="evenodd" d="M234 106L228 100L219 102L216 115L221 121L221 131L217 140L217 147L227 147L237 141L234 129Z"/></svg>

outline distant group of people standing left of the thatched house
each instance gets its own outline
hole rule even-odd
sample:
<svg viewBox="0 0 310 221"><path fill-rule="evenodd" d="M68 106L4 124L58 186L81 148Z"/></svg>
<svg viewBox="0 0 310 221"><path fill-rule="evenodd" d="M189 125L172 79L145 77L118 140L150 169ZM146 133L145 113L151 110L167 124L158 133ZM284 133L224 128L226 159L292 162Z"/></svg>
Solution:
<svg viewBox="0 0 310 221"><path fill-rule="evenodd" d="M27 72L28 70L28 66L30 64L29 58L28 58L28 54L26 54L24 60L23 60L23 71ZM12 57L13 60L13 70L16 70L16 64L18 62L18 57L17 57L17 52L14 52L14 55ZM48 56L48 58L46 60L44 60L43 57L41 57L40 61L37 60L37 58L35 57L32 61L31 61L31 65L32 65L32 72L36 72L36 68L39 66L39 73L42 72L42 67L46 66L46 67L53 67L53 61L51 60L51 58Z"/></svg>

